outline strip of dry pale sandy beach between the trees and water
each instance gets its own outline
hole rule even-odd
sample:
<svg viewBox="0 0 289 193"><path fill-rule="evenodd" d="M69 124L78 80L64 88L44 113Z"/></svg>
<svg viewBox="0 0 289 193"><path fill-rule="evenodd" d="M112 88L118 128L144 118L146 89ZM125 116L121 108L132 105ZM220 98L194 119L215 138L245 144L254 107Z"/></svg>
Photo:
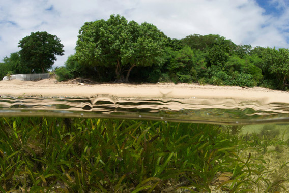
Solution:
<svg viewBox="0 0 289 193"><path fill-rule="evenodd" d="M40 81L0 81L1 96L91 97L99 94L121 98L206 98L258 101L259 104L288 103L289 92L261 87L214 86L193 84L79 84L57 82L55 78Z"/></svg>

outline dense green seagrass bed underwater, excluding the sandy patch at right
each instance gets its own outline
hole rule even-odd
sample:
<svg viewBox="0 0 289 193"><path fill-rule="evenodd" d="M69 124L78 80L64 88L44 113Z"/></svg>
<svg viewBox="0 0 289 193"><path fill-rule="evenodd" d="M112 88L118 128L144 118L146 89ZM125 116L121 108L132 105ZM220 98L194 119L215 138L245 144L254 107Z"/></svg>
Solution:
<svg viewBox="0 0 289 193"><path fill-rule="evenodd" d="M208 189L215 173L226 168L216 167L216 159L233 161L223 152L230 155L233 148L227 147L234 141L206 125L79 118L1 119L1 124L0 184L6 190L47 190L56 182L69 192L158 190L181 178Z"/></svg>

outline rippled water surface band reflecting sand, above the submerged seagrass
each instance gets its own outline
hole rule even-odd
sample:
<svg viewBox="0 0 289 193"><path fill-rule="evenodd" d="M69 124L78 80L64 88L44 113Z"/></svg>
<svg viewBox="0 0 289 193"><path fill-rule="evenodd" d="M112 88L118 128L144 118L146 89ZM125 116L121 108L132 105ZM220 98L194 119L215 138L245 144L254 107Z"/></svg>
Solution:
<svg viewBox="0 0 289 193"><path fill-rule="evenodd" d="M288 123L288 104L234 99L0 97L0 116L125 118L211 124Z"/></svg>

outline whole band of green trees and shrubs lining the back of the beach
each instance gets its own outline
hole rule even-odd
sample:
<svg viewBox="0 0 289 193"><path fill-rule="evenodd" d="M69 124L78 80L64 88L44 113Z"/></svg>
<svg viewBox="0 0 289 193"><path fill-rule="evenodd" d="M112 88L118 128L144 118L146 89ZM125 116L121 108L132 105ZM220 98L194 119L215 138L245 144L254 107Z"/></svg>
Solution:
<svg viewBox="0 0 289 193"><path fill-rule="evenodd" d="M31 50L31 42L41 42L43 38L39 37L43 35L50 43L46 41L39 44L41 49ZM46 43L49 46L44 48ZM0 63L1 78L48 71L55 55L64 51L60 40L45 32L24 37L19 47L20 52ZM107 21L86 22L79 30L75 50L63 67L55 69L60 81L81 77L97 82L194 82L288 89L288 49L236 45L213 34L171 39L153 24L128 22L120 15L111 15ZM40 58L43 55L49 65L39 62L44 60Z"/></svg>

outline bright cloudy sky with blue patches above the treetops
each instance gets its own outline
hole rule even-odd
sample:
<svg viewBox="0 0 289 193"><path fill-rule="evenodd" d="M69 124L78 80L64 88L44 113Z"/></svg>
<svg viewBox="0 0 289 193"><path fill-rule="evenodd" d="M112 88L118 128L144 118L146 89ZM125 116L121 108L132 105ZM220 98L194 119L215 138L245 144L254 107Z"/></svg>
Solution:
<svg viewBox="0 0 289 193"><path fill-rule="evenodd" d="M64 45L53 67L62 66L81 26L111 14L152 23L171 38L218 34L237 45L289 48L288 0L0 0L0 62L31 32L47 31Z"/></svg>

